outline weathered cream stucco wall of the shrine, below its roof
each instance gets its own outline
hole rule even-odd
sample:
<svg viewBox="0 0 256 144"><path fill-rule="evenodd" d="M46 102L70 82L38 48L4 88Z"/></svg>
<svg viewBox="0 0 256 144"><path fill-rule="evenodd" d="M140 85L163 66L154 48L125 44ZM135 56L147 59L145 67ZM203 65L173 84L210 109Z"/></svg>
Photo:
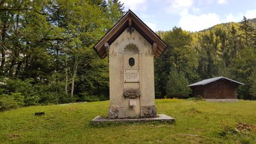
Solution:
<svg viewBox="0 0 256 144"><path fill-rule="evenodd" d="M134 58L134 65L129 65ZM124 70L139 70L138 82L125 82ZM140 90L140 97L133 98L130 106L124 90ZM134 29L127 29L109 45L109 117L152 117L156 116L154 90L154 54L152 45Z"/></svg>

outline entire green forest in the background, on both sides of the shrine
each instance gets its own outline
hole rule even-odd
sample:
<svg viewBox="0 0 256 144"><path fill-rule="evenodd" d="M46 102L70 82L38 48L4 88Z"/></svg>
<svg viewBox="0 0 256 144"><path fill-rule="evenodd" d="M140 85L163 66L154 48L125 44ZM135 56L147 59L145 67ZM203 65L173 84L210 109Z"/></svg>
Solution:
<svg viewBox="0 0 256 144"><path fill-rule="evenodd" d="M106 100L108 58L93 45L124 15L118 0L0 1L0 111ZM246 19L196 33L158 31L168 48L155 61L156 98L186 98L186 87L226 76L256 99L256 26Z"/></svg>

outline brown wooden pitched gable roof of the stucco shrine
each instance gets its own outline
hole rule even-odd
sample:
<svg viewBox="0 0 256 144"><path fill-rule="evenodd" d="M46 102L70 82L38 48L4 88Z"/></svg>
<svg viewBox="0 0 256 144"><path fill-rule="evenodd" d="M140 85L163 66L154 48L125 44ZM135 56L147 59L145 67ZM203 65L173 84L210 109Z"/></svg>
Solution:
<svg viewBox="0 0 256 144"><path fill-rule="evenodd" d="M107 56L104 44L111 45L125 29L129 28L129 25L136 29L150 44L155 43L157 45L155 52L157 57L162 54L167 45L137 15L129 10L93 47L100 58L106 58Z"/></svg>

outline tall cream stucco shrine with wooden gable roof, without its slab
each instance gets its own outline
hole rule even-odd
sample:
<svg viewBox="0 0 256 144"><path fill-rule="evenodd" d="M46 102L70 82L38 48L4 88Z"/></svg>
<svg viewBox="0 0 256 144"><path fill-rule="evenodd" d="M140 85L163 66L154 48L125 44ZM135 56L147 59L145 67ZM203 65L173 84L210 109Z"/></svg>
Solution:
<svg viewBox="0 0 256 144"><path fill-rule="evenodd" d="M165 48L131 10L95 45L109 56L109 118L156 118L154 57Z"/></svg>

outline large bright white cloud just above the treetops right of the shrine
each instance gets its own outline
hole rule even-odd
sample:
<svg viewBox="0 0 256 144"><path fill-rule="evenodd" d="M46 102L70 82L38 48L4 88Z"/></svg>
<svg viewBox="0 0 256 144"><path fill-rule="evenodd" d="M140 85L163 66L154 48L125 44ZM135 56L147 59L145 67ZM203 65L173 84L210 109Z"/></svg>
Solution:
<svg viewBox="0 0 256 144"><path fill-rule="evenodd" d="M216 13L208 13L198 16L186 15L181 17L179 21L180 27L187 31L200 31L220 23L220 16Z"/></svg>

